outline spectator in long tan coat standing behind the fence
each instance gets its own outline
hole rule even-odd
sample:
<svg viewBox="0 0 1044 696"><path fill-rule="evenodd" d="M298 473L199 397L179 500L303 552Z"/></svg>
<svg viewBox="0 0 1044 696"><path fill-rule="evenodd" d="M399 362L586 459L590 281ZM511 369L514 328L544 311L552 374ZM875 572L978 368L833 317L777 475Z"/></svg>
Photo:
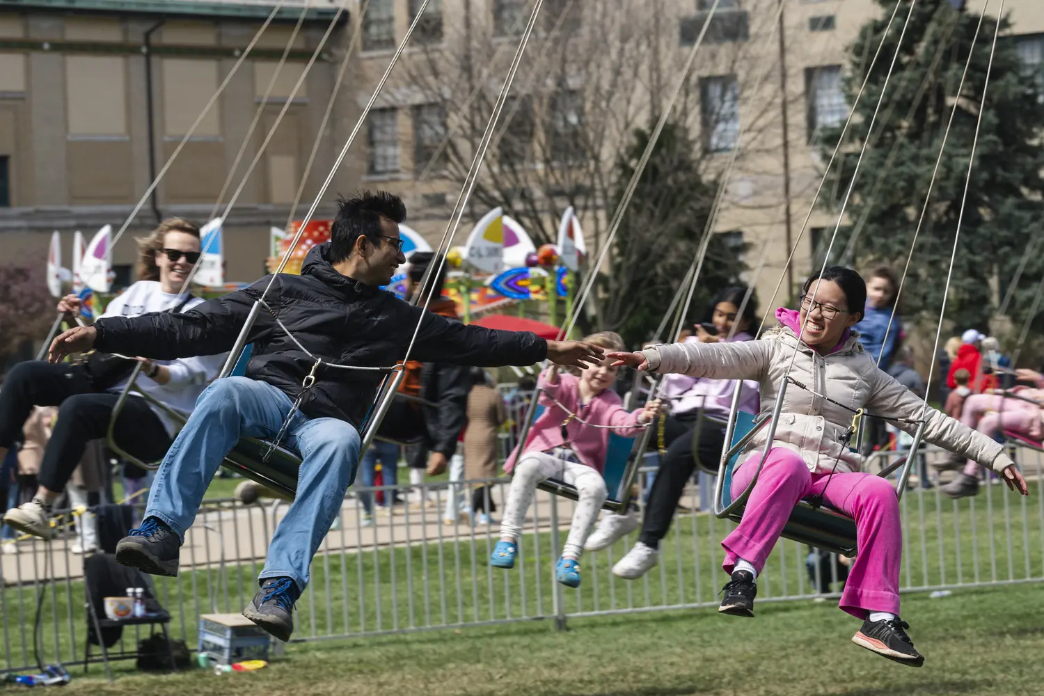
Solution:
<svg viewBox="0 0 1044 696"><path fill-rule="evenodd" d="M504 402L490 385L487 371L471 368L472 387L468 393L468 428L464 433L465 478L469 481L497 476L497 433L506 419ZM492 524L496 505L493 484L477 485L472 490L471 509L476 525Z"/></svg>

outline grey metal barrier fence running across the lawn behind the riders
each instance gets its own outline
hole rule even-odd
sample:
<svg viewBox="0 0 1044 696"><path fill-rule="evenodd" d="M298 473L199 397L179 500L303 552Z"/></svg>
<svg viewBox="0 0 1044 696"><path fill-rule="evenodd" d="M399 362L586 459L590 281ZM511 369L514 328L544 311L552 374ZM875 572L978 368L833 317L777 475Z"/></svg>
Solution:
<svg viewBox="0 0 1044 696"><path fill-rule="evenodd" d="M977 497L960 501L942 496L938 486L915 484L907 490L901 503L903 592L1044 580L1041 461L1037 455L1020 456L1030 480L1029 498L1002 485L984 485ZM476 486L489 485L498 509L507 493L504 479L456 485L464 501L471 500ZM644 488L646 477L639 477L639 485ZM387 486L372 490L390 493ZM661 543L658 567L635 581L612 574L634 543L633 534L611 549L585 555L577 590L556 583L553 570L573 503L538 493L517 568L503 571L488 563L497 525L474 526L464 514L444 521L450 490L449 483L412 488L407 504L393 513L376 513L372 526L358 501L346 499L298 602L292 640L532 620L561 627L572 617L712 606L727 580L720 541L733 525L698 510L696 486L686 490L684 508ZM429 503L423 502L426 497ZM638 501L644 498L641 490ZM180 575L153 578L156 595L172 616L172 638L195 648L200 614L239 613L245 606L256 591L272 529L286 509L286 502L271 500L205 503L182 549ZM82 557L70 552L74 541L67 529L52 542L22 542L17 554L0 556L0 670L35 666L37 652L44 664L82 661ZM758 601L831 596L837 590L832 580L843 573L836 559L782 542L759 577ZM133 648L145 633L128 627L125 647Z"/></svg>

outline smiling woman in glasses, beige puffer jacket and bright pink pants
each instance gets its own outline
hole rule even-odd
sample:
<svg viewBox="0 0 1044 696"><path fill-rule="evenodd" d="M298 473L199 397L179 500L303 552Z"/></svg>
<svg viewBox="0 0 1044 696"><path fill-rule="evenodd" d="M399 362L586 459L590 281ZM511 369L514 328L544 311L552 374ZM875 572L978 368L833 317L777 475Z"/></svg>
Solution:
<svg viewBox="0 0 1044 696"><path fill-rule="evenodd" d="M722 566L731 578L722 587L718 610L754 616L758 574L794 504L811 497L855 521L858 553L840 598L840 608L863 622L852 642L920 667L924 656L905 631L908 624L899 618L899 501L887 480L859 471L861 459L849 449L849 409L912 418L922 413L922 402L877 367L853 331L862 318L865 293L857 272L831 266L822 280L812 275L805 281L799 310L777 310L779 328L760 340L658 345L608 355L616 364L643 370L758 380L762 413L774 409L787 376L805 385L788 385L774 441L766 443L767 429L762 430L739 454L733 497L754 480L769 448L742 521L721 543ZM1009 487L1027 495L1025 480L998 442L934 409L924 411L924 417L926 441L992 467ZM905 421L895 425L909 433L918 427Z"/></svg>

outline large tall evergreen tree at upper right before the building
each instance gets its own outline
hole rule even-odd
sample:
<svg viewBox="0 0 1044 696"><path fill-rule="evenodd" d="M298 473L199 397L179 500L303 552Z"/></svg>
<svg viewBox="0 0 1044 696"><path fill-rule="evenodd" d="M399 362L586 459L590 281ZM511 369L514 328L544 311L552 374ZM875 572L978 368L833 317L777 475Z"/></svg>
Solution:
<svg viewBox="0 0 1044 696"><path fill-rule="evenodd" d="M878 96L885 89L907 2L903 0L884 39L856 109L844 147L849 154L831 172L826 190L844 192L852 181L857 158L851 153L862 146ZM860 56L877 50L895 3L878 0L882 18L868 22L852 47L845 88L849 103L854 102L863 78L859 73ZM946 309L947 319L958 329L987 329L997 311L997 299L1003 296L1030 239L1044 234L1041 75L1020 63L1015 42L1005 35L1009 21L1003 18L999 20L1000 38L987 89L997 21L987 16L976 34L979 16L955 9L949 0L917 3L902 46L898 47L899 57L848 206L848 230L843 231L831 255L832 263L854 258L859 267L884 262L902 270L972 50L902 298L903 311L911 318L938 318L975 124L983 109ZM839 136L839 127L823 134L820 146L827 157ZM828 205L836 209L838 202ZM846 237L852 231L855 239L849 244ZM839 254L846 245L854 255ZM1026 317L1042 274L1044 255L1035 254L1007 312L1015 322L1021 323ZM1038 318L1037 326L1044 327L1044 320Z"/></svg>

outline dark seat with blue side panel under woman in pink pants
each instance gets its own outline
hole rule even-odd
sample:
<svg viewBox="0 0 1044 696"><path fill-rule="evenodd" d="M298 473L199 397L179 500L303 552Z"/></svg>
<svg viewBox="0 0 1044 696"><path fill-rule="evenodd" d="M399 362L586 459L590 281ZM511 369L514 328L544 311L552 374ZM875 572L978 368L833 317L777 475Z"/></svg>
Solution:
<svg viewBox="0 0 1044 696"><path fill-rule="evenodd" d="M767 421L760 425L765 423ZM730 449L739 445L758 426L754 415L739 411L736 415L736 427L733 431ZM739 455L740 452L737 451L726 465L725 482L721 486L722 509L727 508L733 501L732 474ZM726 517L738 524L743 519L743 509L740 507L736 512ZM807 544L843 556L854 556L856 551L855 521L826 505L813 507L805 500L799 501L794 506L781 535L799 544Z"/></svg>

